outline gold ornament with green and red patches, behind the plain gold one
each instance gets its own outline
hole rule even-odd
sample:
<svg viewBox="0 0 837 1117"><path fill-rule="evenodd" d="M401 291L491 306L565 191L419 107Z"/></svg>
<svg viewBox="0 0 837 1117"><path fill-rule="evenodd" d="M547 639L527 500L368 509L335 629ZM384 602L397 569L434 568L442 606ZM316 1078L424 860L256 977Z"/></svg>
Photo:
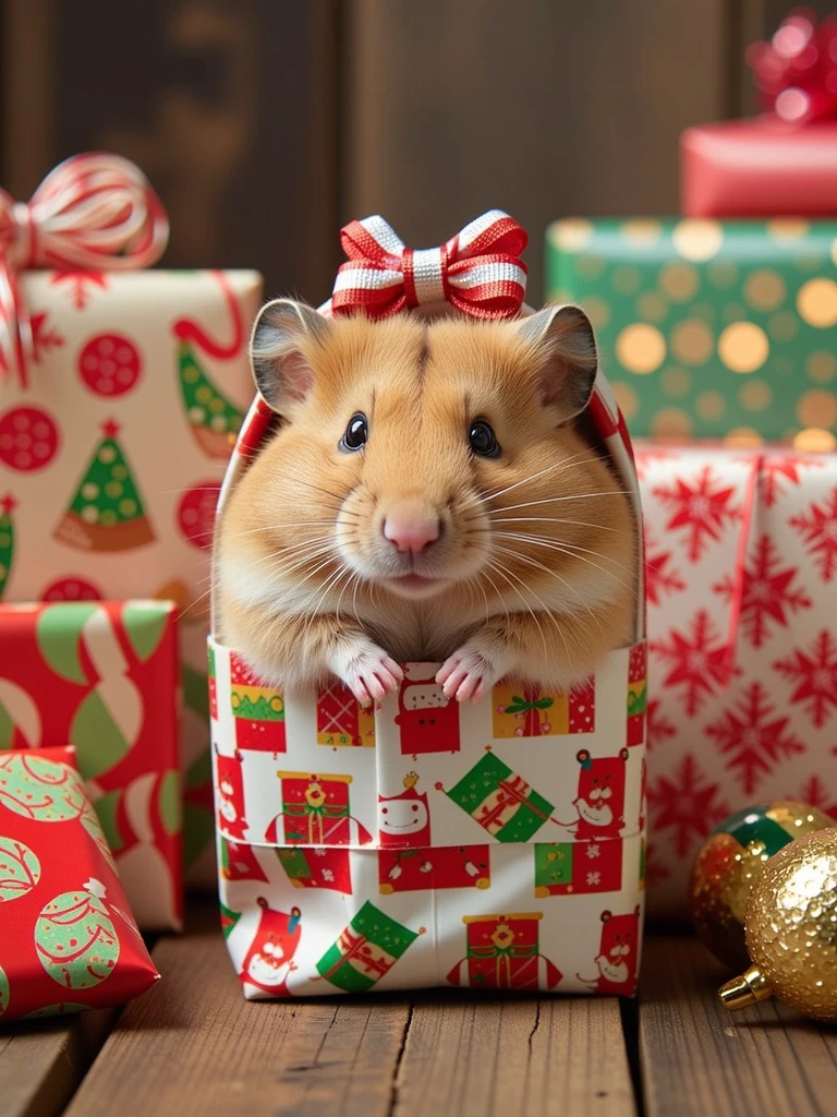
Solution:
<svg viewBox="0 0 837 1117"><path fill-rule="evenodd" d="M745 970L744 914L768 860L795 838L837 827L824 811L795 800L747 806L719 823L692 865L689 914L699 937L731 970Z"/></svg>

